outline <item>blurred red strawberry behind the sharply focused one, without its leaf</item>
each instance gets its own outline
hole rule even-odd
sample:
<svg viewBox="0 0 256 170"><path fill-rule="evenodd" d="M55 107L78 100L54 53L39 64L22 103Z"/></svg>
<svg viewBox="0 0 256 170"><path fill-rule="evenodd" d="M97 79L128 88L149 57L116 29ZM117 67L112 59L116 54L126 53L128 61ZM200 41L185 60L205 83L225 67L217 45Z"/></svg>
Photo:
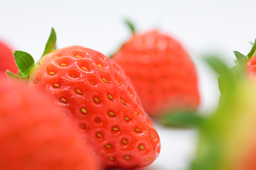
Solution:
<svg viewBox="0 0 256 170"><path fill-rule="evenodd" d="M173 38L158 31L135 33L112 59L131 79L150 116L197 109L195 66Z"/></svg>

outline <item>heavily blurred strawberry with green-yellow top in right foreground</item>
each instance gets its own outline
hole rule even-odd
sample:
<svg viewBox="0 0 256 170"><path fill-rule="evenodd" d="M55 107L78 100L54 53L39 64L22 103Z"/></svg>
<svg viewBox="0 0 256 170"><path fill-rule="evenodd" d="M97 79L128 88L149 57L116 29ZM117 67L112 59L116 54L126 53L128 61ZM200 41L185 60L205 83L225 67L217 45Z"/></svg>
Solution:
<svg viewBox="0 0 256 170"><path fill-rule="evenodd" d="M255 44L245 56L234 51L237 65L228 68L220 59L206 61L219 74L218 108L209 116L176 114L172 121L199 130L199 144L191 170L256 169L256 81L248 76ZM250 59L251 58L251 59ZM252 74L252 72L249 72Z"/></svg>

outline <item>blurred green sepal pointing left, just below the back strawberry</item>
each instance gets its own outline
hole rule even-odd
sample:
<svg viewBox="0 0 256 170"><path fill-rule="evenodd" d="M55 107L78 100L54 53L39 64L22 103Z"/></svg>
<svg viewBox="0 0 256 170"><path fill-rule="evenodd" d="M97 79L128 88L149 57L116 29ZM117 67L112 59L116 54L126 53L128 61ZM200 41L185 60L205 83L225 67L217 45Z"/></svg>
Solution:
<svg viewBox="0 0 256 170"><path fill-rule="evenodd" d="M171 127L199 127L204 118L195 112L166 114L160 118L161 124Z"/></svg>

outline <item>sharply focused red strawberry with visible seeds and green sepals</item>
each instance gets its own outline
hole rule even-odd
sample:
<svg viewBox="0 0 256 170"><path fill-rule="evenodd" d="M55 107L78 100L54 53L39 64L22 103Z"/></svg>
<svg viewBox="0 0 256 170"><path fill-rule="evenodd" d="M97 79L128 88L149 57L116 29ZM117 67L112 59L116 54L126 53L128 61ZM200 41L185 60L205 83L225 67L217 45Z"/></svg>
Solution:
<svg viewBox="0 0 256 170"><path fill-rule="evenodd" d="M28 53L15 51L17 63L22 58L28 69L18 64L22 74L8 75L27 79L28 86L49 94L52 102L68 111L104 167L151 164L160 151L159 136L124 71L88 48L52 50L55 40L52 29L43 57L35 65Z"/></svg>

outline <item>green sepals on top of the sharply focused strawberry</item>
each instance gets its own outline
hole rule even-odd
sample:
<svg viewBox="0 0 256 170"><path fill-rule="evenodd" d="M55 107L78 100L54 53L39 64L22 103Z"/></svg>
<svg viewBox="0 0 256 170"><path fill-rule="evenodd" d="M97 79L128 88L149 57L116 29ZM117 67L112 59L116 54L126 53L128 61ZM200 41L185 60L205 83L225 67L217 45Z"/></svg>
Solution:
<svg viewBox="0 0 256 170"><path fill-rule="evenodd" d="M53 49L55 49L55 44L56 44L56 33L52 28L50 37L46 43L45 50L42 57L50 53ZM35 61L33 57L29 53L24 51L14 51L13 54L14 54L15 62L19 68L19 74L16 75L10 72L9 70L7 70L8 78L18 79L18 80L28 80L30 71L35 65Z"/></svg>

